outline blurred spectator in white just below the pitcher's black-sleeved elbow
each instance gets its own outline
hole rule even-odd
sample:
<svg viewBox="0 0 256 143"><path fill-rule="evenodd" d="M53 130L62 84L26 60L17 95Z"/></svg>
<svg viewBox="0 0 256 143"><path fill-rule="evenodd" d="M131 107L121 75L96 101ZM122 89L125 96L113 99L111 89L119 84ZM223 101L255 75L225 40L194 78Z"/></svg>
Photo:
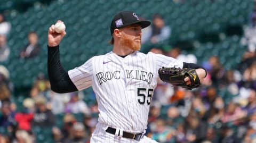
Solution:
<svg viewBox="0 0 256 143"><path fill-rule="evenodd" d="M79 99L78 92L71 93L71 98L69 103L67 103L65 108L66 113L84 113L90 114L90 108L86 105L86 103Z"/></svg>

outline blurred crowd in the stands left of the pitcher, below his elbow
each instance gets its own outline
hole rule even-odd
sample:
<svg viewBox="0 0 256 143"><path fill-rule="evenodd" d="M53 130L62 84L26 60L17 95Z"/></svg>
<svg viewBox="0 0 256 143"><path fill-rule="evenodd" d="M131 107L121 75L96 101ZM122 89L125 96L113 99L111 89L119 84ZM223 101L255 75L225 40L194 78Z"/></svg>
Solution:
<svg viewBox="0 0 256 143"><path fill-rule="evenodd" d="M51 135L44 138L54 142L87 142L98 122L97 104L89 107L83 100L83 92L53 92L42 73L38 74L29 96L22 100L19 108L11 90L6 87L6 91L0 96L0 131L5 134L1 139L6 142L35 142L43 130Z"/></svg>

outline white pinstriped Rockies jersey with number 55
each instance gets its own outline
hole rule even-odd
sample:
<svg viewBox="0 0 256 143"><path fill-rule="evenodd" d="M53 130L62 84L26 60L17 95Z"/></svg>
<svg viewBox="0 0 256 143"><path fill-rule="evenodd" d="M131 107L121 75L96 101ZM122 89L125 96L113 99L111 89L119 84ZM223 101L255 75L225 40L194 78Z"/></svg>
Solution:
<svg viewBox="0 0 256 143"><path fill-rule="evenodd" d="M68 74L78 90L92 86L99 123L136 133L147 128L157 72L162 66L182 68L183 63L151 52L134 52L124 58L109 52L90 58Z"/></svg>

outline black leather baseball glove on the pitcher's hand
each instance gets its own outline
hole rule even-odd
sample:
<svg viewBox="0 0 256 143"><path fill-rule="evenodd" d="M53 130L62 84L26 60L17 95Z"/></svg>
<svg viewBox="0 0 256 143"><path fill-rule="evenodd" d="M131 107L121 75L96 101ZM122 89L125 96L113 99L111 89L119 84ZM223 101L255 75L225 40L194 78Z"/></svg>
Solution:
<svg viewBox="0 0 256 143"><path fill-rule="evenodd" d="M186 89L193 89L201 85L195 69L160 68L158 70L161 80L171 83L174 86L181 86ZM186 85L184 79L190 77L191 84Z"/></svg>

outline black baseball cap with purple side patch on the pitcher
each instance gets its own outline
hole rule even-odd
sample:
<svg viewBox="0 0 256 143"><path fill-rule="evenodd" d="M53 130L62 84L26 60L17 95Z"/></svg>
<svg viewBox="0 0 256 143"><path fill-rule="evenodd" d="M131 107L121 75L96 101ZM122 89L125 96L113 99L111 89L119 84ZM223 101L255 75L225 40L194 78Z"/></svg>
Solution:
<svg viewBox="0 0 256 143"><path fill-rule="evenodd" d="M139 16L132 11L123 11L116 14L111 22L110 32L113 34L114 30L130 26L131 24L140 24L141 28L148 27L151 22L146 20L140 20Z"/></svg>

